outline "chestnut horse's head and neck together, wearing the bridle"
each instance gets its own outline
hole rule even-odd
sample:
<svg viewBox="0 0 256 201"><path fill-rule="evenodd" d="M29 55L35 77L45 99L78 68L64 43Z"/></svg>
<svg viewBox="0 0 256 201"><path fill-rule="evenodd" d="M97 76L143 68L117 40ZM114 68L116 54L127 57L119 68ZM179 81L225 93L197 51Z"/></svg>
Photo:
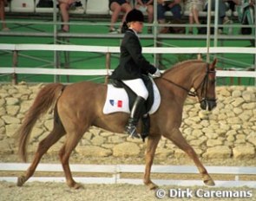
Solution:
<svg viewBox="0 0 256 201"><path fill-rule="evenodd" d="M216 59L211 64L199 60L181 62L174 68L165 71L161 76L161 80L182 89L188 95L197 96L200 101L200 107L211 111L217 105L215 94L216 62ZM187 68L187 66L191 68ZM194 88L193 92L191 88Z"/></svg>

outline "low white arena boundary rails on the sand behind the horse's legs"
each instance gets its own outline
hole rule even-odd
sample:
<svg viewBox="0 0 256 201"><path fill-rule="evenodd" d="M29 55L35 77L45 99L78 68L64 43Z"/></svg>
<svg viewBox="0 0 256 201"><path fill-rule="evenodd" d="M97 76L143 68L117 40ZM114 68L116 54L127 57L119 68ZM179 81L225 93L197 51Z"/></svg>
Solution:
<svg viewBox="0 0 256 201"><path fill-rule="evenodd" d="M24 163L0 163L1 172L23 172L30 164ZM70 165L71 172L82 173L108 173L112 177L74 177L82 184L130 184L143 185L139 178L121 178L121 173L143 173L144 165ZM240 176L255 176L256 167L242 166L207 166L210 174L232 175L233 180L215 180L215 187L243 187L256 188L256 181L240 180ZM62 172L60 164L39 164L36 172ZM192 165L153 165L152 173L160 174L198 174ZM224 177L223 177L224 178ZM17 177L0 177L0 181L16 182ZM64 177L32 177L28 182L65 182ZM179 185L179 186L203 186L201 180L182 179L153 179L156 185Z"/></svg>

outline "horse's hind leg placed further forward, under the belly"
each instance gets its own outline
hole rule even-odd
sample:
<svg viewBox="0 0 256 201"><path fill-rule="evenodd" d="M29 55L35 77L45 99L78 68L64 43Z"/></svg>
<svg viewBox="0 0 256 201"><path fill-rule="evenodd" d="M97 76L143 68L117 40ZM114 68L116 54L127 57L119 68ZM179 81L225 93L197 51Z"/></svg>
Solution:
<svg viewBox="0 0 256 201"><path fill-rule="evenodd" d="M79 140L82 138L84 132L78 132L79 128L76 128L74 130L75 132L67 132L66 142L64 146L62 146L62 149L59 152L59 156L62 162L62 168L65 172L67 184L71 188L78 189L81 187L81 185L77 184L74 178L72 177L72 173L69 167L69 157L71 152L75 149L75 146L77 146Z"/></svg>

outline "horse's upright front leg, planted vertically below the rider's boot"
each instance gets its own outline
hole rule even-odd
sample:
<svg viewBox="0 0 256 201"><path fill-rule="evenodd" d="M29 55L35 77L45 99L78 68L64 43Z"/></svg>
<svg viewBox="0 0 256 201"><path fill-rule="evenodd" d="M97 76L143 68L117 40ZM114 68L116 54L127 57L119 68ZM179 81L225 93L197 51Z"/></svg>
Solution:
<svg viewBox="0 0 256 201"><path fill-rule="evenodd" d="M144 184L148 185L150 190L153 190L158 187L151 181L150 172L151 172L151 166L154 160L154 152L160 139L161 139L161 135L148 136L147 148L145 152L146 167L145 167L145 173L144 173Z"/></svg>

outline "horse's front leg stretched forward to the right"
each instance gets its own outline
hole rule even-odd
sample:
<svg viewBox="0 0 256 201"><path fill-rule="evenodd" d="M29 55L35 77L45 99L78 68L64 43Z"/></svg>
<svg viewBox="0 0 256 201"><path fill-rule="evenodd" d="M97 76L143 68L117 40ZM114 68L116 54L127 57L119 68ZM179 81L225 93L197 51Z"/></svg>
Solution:
<svg viewBox="0 0 256 201"><path fill-rule="evenodd" d="M170 139L171 141L173 141L176 146L181 148L181 150L186 152L187 155L194 160L194 164L197 166L202 176L202 179L206 185L215 185L213 178L210 177L210 175L207 172L207 169L200 162L200 159L198 158L196 152L194 152L194 149L192 148L192 146L188 145L187 140L183 137L179 128L174 128L171 133L166 134L164 136L167 139Z"/></svg>

